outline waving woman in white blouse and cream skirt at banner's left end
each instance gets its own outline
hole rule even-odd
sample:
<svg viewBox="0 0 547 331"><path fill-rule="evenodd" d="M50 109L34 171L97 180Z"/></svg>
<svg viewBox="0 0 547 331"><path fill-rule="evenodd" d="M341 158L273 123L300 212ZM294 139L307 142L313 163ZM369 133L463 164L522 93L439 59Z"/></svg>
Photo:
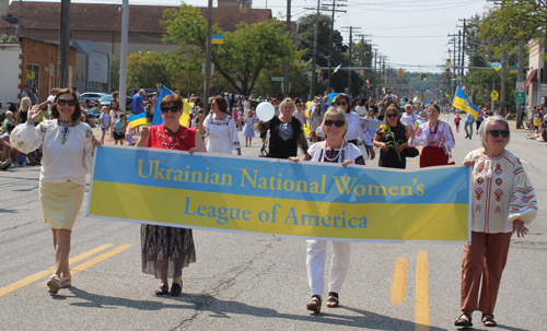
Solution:
<svg viewBox="0 0 547 331"><path fill-rule="evenodd" d="M93 154L98 142L90 126L80 121L82 109L77 94L61 88L51 106L53 120L45 120L36 128L42 105L28 110L26 123L19 125L11 133L11 144L22 153L30 153L43 145L44 157L39 175L39 200L44 218L51 226L54 236L54 274L47 286L49 293L71 286L69 269L70 237L85 191L85 175L93 168Z"/></svg>

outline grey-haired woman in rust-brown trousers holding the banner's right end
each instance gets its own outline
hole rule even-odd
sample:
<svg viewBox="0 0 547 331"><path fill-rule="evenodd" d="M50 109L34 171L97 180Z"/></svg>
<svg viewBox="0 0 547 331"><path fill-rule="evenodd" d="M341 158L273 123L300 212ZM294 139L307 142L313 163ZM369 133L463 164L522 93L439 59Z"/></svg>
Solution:
<svg viewBox="0 0 547 331"><path fill-rule="evenodd" d="M474 310L481 311L484 326L496 327L493 309L511 236L524 237L528 232L525 224L537 215L532 181L519 157L505 150L510 140L507 120L487 117L479 138L482 146L467 154L463 163L473 167L473 213L472 244L464 246L462 261L457 327L472 327Z"/></svg>

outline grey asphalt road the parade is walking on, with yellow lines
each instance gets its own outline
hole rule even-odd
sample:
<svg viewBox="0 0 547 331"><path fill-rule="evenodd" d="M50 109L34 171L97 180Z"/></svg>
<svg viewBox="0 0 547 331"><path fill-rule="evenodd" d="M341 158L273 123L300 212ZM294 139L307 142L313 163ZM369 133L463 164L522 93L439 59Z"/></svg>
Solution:
<svg viewBox="0 0 547 331"><path fill-rule="evenodd" d="M462 131L453 152L458 164L480 144ZM525 134L513 132L508 149L521 156L543 208L547 144ZM256 156L259 145L257 138L243 154ZM140 225L88 218L86 202L72 236L73 286L50 296L54 251L38 175L39 167L0 173L1 330L455 329L461 246L352 244L341 307L313 315L305 309L305 240L194 230L197 263L184 270L183 295L158 297L158 280L141 272ZM513 238L494 311L499 327L489 330L547 330L545 221L540 209L529 235ZM474 322L487 329L479 312Z"/></svg>

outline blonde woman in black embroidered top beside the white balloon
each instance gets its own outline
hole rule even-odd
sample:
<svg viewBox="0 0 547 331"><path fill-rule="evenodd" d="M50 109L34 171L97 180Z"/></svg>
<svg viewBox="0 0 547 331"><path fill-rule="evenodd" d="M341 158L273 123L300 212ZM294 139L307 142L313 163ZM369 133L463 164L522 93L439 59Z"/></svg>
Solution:
<svg viewBox="0 0 547 331"><path fill-rule="evenodd" d="M279 105L280 114L274 116L269 122L258 122L256 126L260 132L270 130L268 141L268 154L266 157L287 159L296 156L299 145L302 151L307 152L307 142L300 120L292 116L294 113L294 102L286 98Z"/></svg>

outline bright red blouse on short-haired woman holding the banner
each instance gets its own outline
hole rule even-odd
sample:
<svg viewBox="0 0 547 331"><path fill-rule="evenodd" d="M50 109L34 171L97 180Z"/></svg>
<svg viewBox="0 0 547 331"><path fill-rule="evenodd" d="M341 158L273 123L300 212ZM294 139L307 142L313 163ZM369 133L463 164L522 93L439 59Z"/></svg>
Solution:
<svg viewBox="0 0 547 331"><path fill-rule="evenodd" d="M184 143L181 142L177 135ZM152 149L188 151L196 145L196 129L181 126L174 134L166 130L165 125L150 127L149 143Z"/></svg>

